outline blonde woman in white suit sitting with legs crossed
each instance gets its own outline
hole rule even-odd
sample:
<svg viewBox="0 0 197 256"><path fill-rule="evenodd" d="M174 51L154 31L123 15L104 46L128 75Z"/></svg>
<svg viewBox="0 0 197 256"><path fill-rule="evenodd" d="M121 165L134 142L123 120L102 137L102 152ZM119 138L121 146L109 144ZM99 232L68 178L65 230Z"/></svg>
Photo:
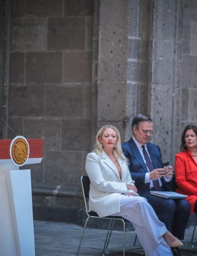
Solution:
<svg viewBox="0 0 197 256"><path fill-rule="evenodd" d="M107 125L98 131L85 169L90 179L89 211L131 221L146 256L172 256L170 247L183 245L158 220L147 200L137 194L116 127Z"/></svg>

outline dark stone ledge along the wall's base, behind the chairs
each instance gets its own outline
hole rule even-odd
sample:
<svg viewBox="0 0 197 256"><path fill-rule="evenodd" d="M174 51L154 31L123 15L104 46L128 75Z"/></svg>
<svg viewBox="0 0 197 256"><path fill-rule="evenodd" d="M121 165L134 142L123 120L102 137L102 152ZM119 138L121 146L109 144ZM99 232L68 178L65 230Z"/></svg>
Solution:
<svg viewBox="0 0 197 256"><path fill-rule="evenodd" d="M84 225L87 218L80 186L32 184L33 216L38 221L57 221ZM190 214L188 225L194 225L195 214ZM121 230L116 221L115 230ZM127 223L127 230L131 225ZM108 220L89 221L89 228L108 228Z"/></svg>

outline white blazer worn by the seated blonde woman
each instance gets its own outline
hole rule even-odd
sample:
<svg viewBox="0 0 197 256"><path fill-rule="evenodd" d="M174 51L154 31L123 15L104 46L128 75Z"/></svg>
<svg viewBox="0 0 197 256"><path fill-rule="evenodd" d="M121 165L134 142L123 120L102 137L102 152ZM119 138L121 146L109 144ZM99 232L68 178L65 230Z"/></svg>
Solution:
<svg viewBox="0 0 197 256"><path fill-rule="evenodd" d="M121 179L117 167L104 151L100 155L92 152L86 157L85 169L90 179L89 211L96 211L100 217L120 212L121 193L135 193L126 187L126 184L135 183L126 162L119 157L117 160L122 171Z"/></svg>

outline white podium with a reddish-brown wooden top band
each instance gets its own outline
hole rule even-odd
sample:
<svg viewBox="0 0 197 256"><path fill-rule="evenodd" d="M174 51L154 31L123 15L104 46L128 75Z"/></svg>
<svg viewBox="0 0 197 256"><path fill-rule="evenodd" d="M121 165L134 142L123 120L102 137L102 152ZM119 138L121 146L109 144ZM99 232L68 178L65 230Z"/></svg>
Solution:
<svg viewBox="0 0 197 256"><path fill-rule="evenodd" d="M27 139L25 164L40 163L43 140ZM30 169L10 157L12 140L0 140L0 256L35 256Z"/></svg>

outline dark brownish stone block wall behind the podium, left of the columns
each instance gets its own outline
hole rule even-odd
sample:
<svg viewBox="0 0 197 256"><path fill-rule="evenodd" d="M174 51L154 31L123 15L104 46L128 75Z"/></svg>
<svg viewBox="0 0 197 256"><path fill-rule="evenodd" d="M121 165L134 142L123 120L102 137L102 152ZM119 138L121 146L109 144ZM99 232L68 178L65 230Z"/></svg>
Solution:
<svg viewBox="0 0 197 256"><path fill-rule="evenodd" d="M25 166L32 170L33 193L78 186L84 173L91 144L93 2L12 2L9 124L18 135L44 139L41 164Z"/></svg>

